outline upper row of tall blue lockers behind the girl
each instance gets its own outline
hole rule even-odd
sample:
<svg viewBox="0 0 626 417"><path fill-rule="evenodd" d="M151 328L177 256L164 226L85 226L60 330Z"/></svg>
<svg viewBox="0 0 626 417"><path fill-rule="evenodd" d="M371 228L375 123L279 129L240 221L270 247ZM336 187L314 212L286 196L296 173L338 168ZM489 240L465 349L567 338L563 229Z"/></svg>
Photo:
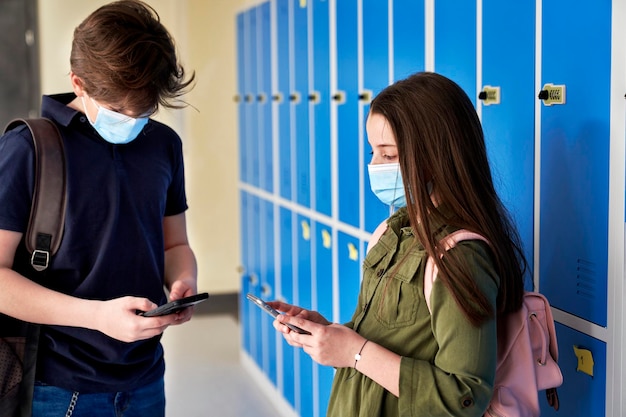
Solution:
<svg viewBox="0 0 626 417"><path fill-rule="evenodd" d="M425 3L275 0L240 13L242 183L373 231L388 212L369 191L368 100L430 66L475 99L531 265L538 247L536 284L606 326L610 1L544 1L539 22L535 2L482 0L477 19L475 1L438 0L433 21Z"/></svg>

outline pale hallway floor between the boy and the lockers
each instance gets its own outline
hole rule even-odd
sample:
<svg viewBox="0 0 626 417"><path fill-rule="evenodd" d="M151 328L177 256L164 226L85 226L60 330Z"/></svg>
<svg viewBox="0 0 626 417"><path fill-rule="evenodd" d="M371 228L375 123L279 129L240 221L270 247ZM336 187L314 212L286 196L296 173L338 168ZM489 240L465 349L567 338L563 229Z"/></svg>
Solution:
<svg viewBox="0 0 626 417"><path fill-rule="evenodd" d="M279 413L241 366L236 307L217 298L165 331L167 417L266 417ZM217 306L217 308L215 308Z"/></svg>

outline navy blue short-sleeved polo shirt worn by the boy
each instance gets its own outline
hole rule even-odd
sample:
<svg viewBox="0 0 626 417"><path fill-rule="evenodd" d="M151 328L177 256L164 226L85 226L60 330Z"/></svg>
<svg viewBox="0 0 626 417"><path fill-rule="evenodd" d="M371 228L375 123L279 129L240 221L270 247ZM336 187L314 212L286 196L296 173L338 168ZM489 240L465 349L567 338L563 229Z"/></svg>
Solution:
<svg viewBox="0 0 626 417"><path fill-rule="evenodd" d="M74 94L44 96L65 145L67 213L61 247L44 283L85 299L126 295L166 301L163 218L187 209L182 143L150 120L125 145L102 139L85 115L67 107ZM28 129L0 138L0 229L24 233L33 189ZM160 337L124 343L98 331L43 326L37 379L80 392L133 390L164 373Z"/></svg>

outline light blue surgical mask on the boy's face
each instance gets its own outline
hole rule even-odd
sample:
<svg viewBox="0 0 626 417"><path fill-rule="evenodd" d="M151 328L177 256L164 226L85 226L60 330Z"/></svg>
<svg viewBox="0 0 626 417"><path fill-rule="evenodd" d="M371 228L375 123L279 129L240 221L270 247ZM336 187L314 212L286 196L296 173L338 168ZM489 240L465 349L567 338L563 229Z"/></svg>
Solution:
<svg viewBox="0 0 626 417"><path fill-rule="evenodd" d="M85 115L87 114L87 107L85 106L85 97L82 96L83 108L85 109ZM147 117L130 117L122 113L114 112L113 110L105 109L98 105L94 99L91 99L93 104L98 108L98 114L96 115L96 121L92 122L87 116L87 120L96 129L96 132L104 140L115 145L129 143L134 140L144 126L148 123Z"/></svg>

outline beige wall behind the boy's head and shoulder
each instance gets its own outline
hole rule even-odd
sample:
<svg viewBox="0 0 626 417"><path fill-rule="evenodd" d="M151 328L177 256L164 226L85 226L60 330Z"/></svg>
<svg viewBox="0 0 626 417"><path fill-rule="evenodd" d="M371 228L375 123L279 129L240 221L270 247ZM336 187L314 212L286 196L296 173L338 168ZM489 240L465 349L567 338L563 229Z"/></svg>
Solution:
<svg viewBox="0 0 626 417"><path fill-rule="evenodd" d="M42 92L70 91L69 53L74 27L108 1L39 0ZM179 47L197 83L185 97L192 107L157 118L182 137L187 226L198 258L199 290L239 290L240 264L235 15L251 0L148 0ZM194 109L195 108L195 109ZM197 109L197 110L196 110Z"/></svg>

